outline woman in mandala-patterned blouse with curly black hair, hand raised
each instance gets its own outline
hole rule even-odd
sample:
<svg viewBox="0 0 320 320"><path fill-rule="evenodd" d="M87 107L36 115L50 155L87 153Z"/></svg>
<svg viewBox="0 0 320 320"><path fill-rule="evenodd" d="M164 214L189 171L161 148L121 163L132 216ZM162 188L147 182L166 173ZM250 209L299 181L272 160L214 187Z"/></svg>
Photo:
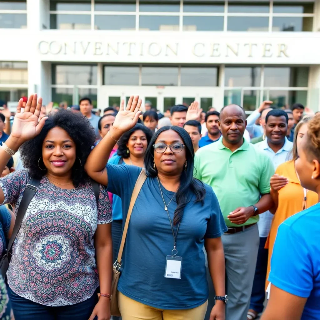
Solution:
<svg viewBox="0 0 320 320"><path fill-rule="evenodd" d="M95 134L82 115L68 110L39 121L41 105L42 99L37 103L36 94L32 95L21 112L19 101L11 135L0 149L0 172L20 147L27 169L0 179L0 204L13 204L17 213L30 179L40 181L13 244L7 272L14 316L16 320L95 316L107 320L111 207L102 186L97 203L84 171Z"/></svg>

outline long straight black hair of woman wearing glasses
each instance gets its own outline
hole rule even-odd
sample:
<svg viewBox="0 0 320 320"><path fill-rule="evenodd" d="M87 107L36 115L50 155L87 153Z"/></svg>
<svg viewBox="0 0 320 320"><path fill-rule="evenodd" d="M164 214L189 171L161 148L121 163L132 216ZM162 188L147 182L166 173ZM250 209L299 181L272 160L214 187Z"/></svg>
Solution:
<svg viewBox="0 0 320 320"><path fill-rule="evenodd" d="M191 138L188 135L187 131L185 131L184 129L178 126L162 127L153 135L144 158L144 166L146 168L146 171L148 172L148 175L153 178L155 178L158 175L158 171L156 169L153 169L154 152L155 152L153 145L155 144L159 135L162 132L167 130L172 130L177 132L186 148L187 168L186 170L183 170L181 173L180 186L176 193L177 208L174 212L174 217L173 217L173 224L176 225L182 220L184 208L187 205L187 203L190 201L191 194L194 194L196 196L195 203L201 202L202 205L204 204L205 188L202 181L197 180L193 177L193 164L194 164L195 153L193 151Z"/></svg>

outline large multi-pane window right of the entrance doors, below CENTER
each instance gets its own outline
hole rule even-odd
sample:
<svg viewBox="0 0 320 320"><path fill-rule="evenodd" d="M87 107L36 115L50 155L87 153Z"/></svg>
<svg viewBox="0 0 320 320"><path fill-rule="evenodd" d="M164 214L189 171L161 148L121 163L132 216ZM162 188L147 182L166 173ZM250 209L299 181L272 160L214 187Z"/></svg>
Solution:
<svg viewBox="0 0 320 320"><path fill-rule="evenodd" d="M307 103L308 67L226 67L225 105L235 103L253 111L263 100L277 108Z"/></svg>

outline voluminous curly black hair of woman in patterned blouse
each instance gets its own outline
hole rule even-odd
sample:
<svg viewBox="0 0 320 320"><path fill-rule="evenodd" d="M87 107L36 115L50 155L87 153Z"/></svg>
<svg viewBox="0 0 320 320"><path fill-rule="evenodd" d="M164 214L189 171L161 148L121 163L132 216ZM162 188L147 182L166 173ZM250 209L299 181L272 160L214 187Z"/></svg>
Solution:
<svg viewBox="0 0 320 320"><path fill-rule="evenodd" d="M46 170L40 170L38 165L39 159L42 158L42 145L48 132L55 127L65 130L76 145L76 157L79 157L82 165L78 161L75 162L71 178L77 188L88 177L84 171L84 164L95 142L94 130L90 122L81 114L60 110L49 116L39 135L21 146L21 160L31 176L41 179L46 173Z"/></svg>

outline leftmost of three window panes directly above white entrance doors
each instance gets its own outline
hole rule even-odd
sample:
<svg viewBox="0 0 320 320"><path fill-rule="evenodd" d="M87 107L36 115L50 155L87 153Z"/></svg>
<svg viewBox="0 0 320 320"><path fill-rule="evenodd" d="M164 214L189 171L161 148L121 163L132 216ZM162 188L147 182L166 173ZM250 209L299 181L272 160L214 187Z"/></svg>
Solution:
<svg viewBox="0 0 320 320"><path fill-rule="evenodd" d="M139 67L104 66L104 85L139 85Z"/></svg>

